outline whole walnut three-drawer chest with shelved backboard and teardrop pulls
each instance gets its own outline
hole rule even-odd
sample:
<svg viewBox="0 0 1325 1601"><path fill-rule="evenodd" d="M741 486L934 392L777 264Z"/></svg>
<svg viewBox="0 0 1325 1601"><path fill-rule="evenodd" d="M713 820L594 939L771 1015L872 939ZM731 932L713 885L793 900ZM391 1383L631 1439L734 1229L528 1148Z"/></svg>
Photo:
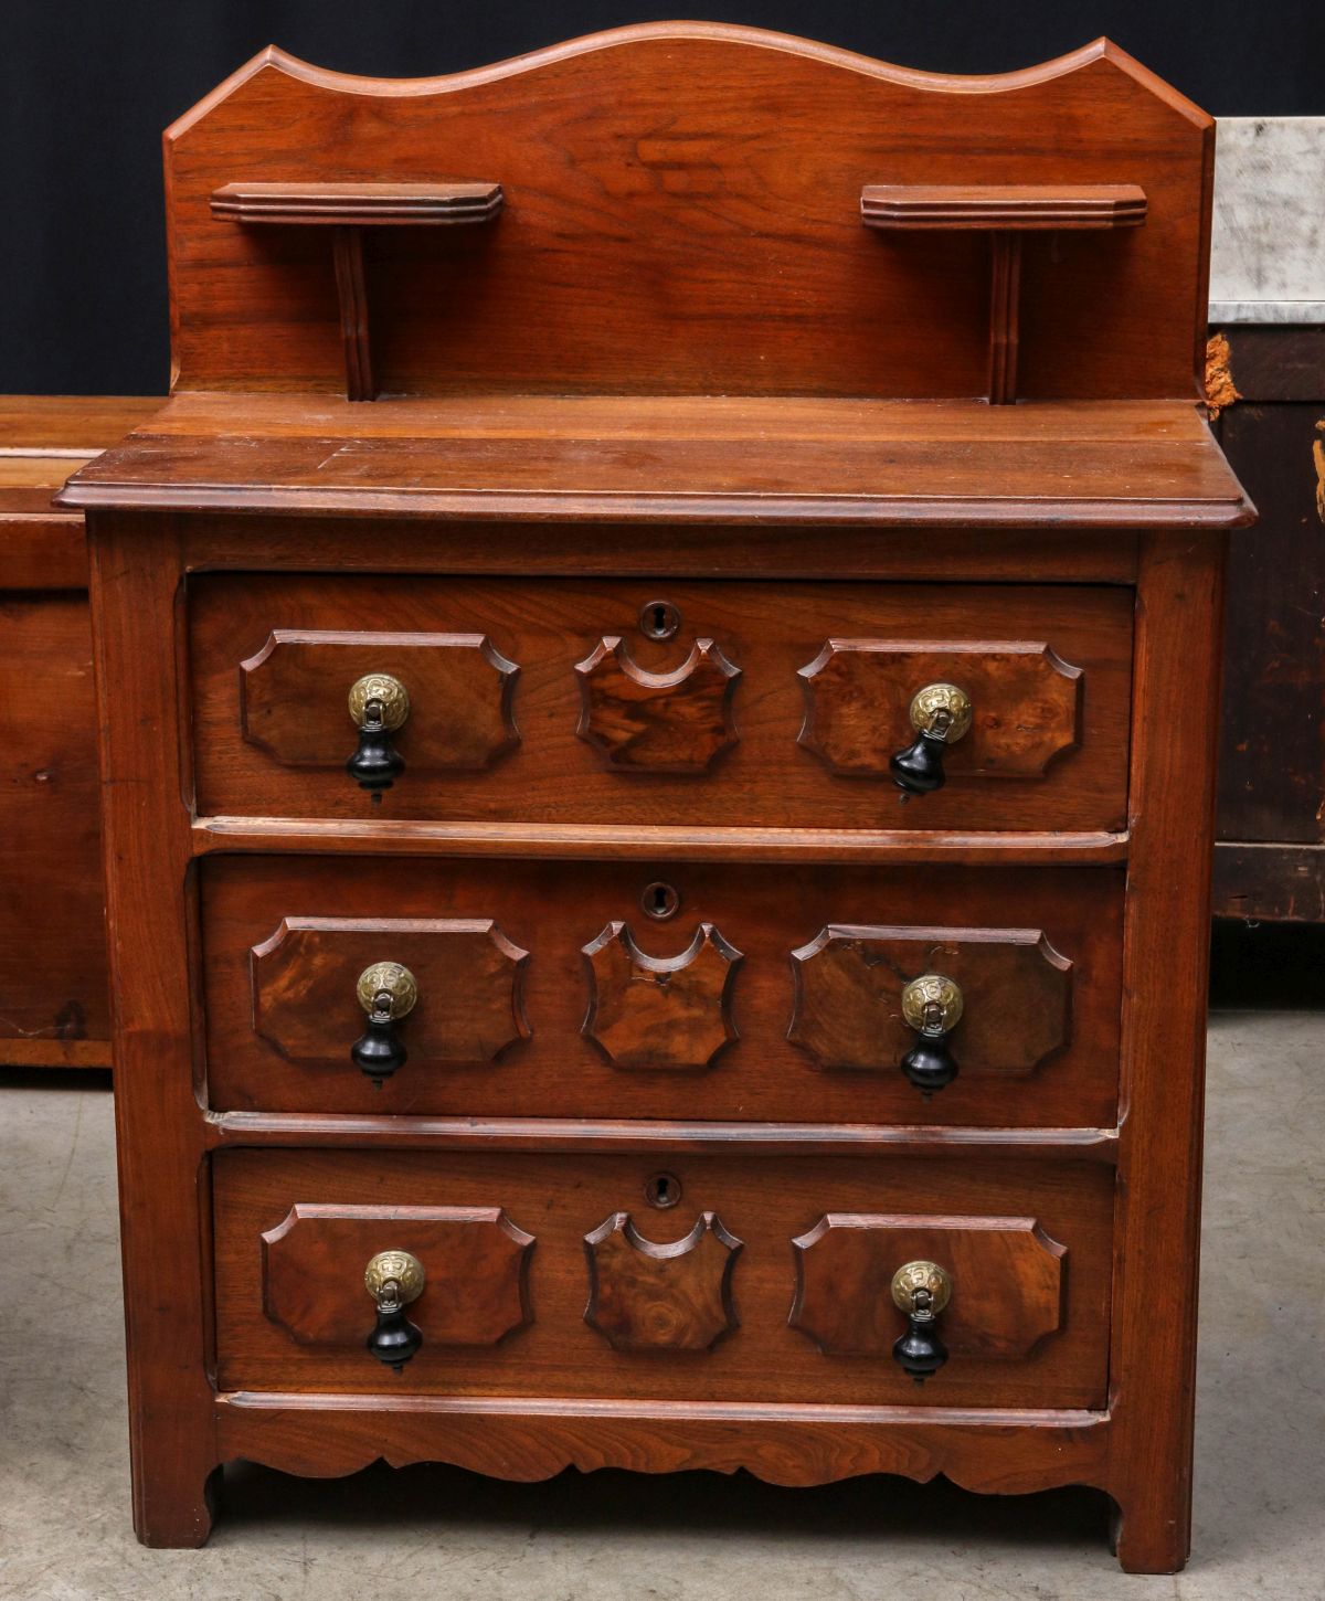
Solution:
<svg viewBox="0 0 1325 1601"><path fill-rule="evenodd" d="M744 1467L1179 1566L1208 118L687 24L264 53L166 163L174 395L64 492L141 1537Z"/></svg>

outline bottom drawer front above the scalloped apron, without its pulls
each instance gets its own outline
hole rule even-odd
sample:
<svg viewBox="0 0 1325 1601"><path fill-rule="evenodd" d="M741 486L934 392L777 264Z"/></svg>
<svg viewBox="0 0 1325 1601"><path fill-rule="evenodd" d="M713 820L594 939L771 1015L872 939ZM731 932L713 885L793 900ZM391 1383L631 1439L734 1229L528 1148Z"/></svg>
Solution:
<svg viewBox="0 0 1325 1601"><path fill-rule="evenodd" d="M222 1151L219 1383L1103 1407L1112 1177L970 1150ZM366 1348L379 1252L408 1252L424 1274L382 1324L421 1335L400 1372ZM907 1329L893 1276L915 1260L951 1284L933 1326L947 1361L923 1386L893 1354Z"/></svg>

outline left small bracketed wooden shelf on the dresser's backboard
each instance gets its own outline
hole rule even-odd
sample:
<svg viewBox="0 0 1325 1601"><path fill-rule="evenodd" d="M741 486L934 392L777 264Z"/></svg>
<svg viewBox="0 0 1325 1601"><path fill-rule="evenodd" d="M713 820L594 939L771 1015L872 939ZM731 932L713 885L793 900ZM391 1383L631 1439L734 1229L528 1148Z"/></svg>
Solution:
<svg viewBox="0 0 1325 1601"><path fill-rule="evenodd" d="M490 223L504 203L501 184L230 183L211 192L211 215L245 226L331 227L346 395L374 400L365 227L456 227Z"/></svg>

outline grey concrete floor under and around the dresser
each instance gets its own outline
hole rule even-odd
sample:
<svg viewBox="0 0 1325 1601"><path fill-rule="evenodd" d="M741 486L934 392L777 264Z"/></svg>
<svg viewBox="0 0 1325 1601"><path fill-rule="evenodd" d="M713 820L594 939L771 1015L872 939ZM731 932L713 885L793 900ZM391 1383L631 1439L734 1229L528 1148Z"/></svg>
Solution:
<svg viewBox="0 0 1325 1601"><path fill-rule="evenodd" d="M0 1596L16 1601L1322 1601L1325 1013L1216 1015L1195 1555L1128 1579L1087 1491L242 1467L202 1551L130 1531L110 1097L0 1087ZM34 1290L40 1286L40 1303Z"/></svg>

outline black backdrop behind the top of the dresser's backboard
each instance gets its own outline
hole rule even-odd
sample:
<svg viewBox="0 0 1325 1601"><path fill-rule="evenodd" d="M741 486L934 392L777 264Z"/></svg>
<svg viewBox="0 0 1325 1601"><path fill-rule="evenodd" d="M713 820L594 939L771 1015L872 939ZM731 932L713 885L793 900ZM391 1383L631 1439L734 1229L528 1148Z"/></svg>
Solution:
<svg viewBox="0 0 1325 1601"><path fill-rule="evenodd" d="M1325 114L1325 0L706 0L701 16L904 66L1002 72L1107 34L1207 110ZM160 130L262 45L342 72L454 72L658 0L0 0L0 392L168 375Z"/></svg>

